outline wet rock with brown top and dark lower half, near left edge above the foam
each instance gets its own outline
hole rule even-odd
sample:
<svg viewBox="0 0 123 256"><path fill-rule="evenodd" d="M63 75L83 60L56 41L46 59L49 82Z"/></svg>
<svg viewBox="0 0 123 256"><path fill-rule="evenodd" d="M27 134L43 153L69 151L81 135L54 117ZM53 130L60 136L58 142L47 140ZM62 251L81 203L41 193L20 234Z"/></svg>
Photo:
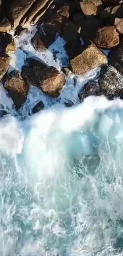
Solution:
<svg viewBox="0 0 123 256"><path fill-rule="evenodd" d="M17 109L19 109L27 99L27 86L19 71L13 70L5 76L3 81L4 88L8 91L9 96Z"/></svg>

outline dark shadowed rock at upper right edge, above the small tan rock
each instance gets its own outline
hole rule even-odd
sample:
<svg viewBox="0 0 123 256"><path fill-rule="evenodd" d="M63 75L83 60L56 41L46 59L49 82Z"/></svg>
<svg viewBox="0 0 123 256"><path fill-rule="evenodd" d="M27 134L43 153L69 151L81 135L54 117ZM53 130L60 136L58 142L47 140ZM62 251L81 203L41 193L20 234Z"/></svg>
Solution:
<svg viewBox="0 0 123 256"><path fill-rule="evenodd" d="M100 16L107 23L114 25L115 18L123 18L123 4L105 8Z"/></svg>

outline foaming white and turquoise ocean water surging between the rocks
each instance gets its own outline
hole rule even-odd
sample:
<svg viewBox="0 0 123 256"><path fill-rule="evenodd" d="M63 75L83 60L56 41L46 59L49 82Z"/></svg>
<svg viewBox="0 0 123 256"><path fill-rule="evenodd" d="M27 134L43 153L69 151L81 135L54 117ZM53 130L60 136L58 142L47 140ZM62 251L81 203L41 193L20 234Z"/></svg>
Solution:
<svg viewBox="0 0 123 256"><path fill-rule="evenodd" d="M16 39L9 71L42 60L33 33ZM43 57L53 65L51 52ZM78 99L98 73L76 76L76 86L71 74L57 101L32 85L18 113L0 86L0 256L123 255L123 101Z"/></svg>

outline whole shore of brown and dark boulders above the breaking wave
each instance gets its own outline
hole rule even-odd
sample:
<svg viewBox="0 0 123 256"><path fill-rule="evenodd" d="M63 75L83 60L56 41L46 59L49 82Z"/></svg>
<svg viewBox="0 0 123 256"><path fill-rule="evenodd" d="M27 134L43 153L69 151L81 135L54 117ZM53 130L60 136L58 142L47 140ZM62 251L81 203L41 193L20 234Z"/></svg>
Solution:
<svg viewBox="0 0 123 256"><path fill-rule="evenodd" d="M60 70L25 53L21 71L10 71L11 54L22 48L16 40L30 26L36 28L30 43L39 54L50 49L58 37L63 39L67 61ZM54 49L54 60L56 53ZM123 99L122 0L0 1L0 82L16 109L25 103L31 85L57 98L71 72L85 75L97 67L101 67L100 75L80 90L80 102L88 95L101 94ZM33 112L44 107L40 102Z"/></svg>

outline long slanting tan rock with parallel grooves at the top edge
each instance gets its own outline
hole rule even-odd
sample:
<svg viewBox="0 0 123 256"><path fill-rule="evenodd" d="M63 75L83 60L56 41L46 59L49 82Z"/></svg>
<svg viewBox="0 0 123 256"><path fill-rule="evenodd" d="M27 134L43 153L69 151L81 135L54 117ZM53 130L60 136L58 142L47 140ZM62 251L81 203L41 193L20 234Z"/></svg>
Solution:
<svg viewBox="0 0 123 256"><path fill-rule="evenodd" d="M36 24L41 16L46 12L46 10L52 5L54 0L38 0L35 1L35 5L32 5L28 15L22 21L22 25Z"/></svg>

